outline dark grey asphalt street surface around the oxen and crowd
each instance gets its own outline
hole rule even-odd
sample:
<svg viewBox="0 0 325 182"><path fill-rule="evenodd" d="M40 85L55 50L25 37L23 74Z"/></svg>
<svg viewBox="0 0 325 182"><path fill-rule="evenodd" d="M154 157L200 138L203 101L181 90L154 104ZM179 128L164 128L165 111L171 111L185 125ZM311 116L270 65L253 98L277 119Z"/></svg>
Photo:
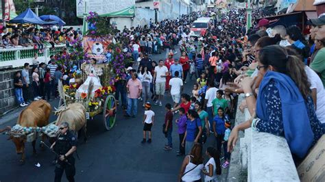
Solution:
<svg viewBox="0 0 325 182"><path fill-rule="evenodd" d="M176 55L178 58L180 54ZM165 57L153 55L153 60ZM185 85L185 92L190 93L193 81ZM172 103L170 96L165 96L165 103ZM51 103L52 107L58 105L58 101ZM117 122L111 131L105 131L101 118L95 117L88 120L88 142L84 143L80 138L77 153L80 160L76 159L76 181L176 181L183 157L176 157L178 151L177 127L173 124L173 150L164 151L167 139L161 132L165 118L165 107L153 105L155 112L155 125L152 128L152 144L141 144L142 119L144 109L139 102L139 112L136 118L125 118L121 107L118 109ZM14 113L10 113L12 115ZM178 118L178 114L174 116ZM17 118L0 126L14 125ZM56 119L51 116L50 122ZM53 154L49 150L41 151L37 143L38 155L32 155L32 145L26 145L26 161L19 165L19 157L16 155L14 144L7 140L7 135L0 135L0 181L53 181L54 166L51 165ZM210 137L208 144L214 143ZM48 143L48 142L47 142ZM204 149L205 151L205 149ZM204 156L206 159L206 156ZM222 161L221 161L222 162ZM40 168L35 164L40 163ZM222 164L222 163L221 163ZM221 180L227 171L223 170ZM66 181L65 176L62 181Z"/></svg>

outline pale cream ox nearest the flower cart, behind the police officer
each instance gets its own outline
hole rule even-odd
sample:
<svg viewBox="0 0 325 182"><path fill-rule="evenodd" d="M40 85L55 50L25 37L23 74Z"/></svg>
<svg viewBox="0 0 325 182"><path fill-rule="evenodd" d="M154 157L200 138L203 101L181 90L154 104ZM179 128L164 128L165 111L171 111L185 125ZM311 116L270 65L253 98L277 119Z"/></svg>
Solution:
<svg viewBox="0 0 325 182"><path fill-rule="evenodd" d="M60 126L61 122L68 122L69 129L77 134L81 129L84 130L84 140L86 140L86 109L81 103L71 103L65 109L59 109L56 112L58 119L56 125Z"/></svg>

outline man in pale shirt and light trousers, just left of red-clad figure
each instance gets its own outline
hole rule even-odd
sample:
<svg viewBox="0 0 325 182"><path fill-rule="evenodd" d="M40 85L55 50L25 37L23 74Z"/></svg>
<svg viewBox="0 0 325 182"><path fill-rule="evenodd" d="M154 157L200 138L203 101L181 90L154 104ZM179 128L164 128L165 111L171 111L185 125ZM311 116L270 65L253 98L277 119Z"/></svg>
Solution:
<svg viewBox="0 0 325 182"><path fill-rule="evenodd" d="M163 106L161 103L161 99L163 99L163 95L165 94L165 84L166 84L166 76L168 76L168 68L164 66L164 61L159 60L158 66L154 68L154 79L156 81L156 95L158 97L155 105Z"/></svg>

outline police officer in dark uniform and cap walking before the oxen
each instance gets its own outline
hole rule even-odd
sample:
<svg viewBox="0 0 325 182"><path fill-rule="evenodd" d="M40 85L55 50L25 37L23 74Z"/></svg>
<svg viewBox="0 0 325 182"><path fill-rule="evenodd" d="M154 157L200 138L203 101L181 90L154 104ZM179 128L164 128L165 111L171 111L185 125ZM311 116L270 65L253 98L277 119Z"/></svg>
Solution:
<svg viewBox="0 0 325 182"><path fill-rule="evenodd" d="M65 170L65 174L69 182L75 181L75 158L73 153L77 150L77 138L71 131L69 131L69 123L62 122L60 125L60 135L56 142L51 145L51 149L54 149L58 153L55 182L60 182L62 174Z"/></svg>

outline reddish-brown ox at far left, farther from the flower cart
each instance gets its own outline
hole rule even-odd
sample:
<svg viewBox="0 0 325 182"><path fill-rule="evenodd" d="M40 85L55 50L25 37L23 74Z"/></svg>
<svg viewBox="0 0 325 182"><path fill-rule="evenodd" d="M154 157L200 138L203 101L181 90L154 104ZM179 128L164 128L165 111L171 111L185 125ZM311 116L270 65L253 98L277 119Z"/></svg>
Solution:
<svg viewBox="0 0 325 182"><path fill-rule="evenodd" d="M26 109L24 109L17 120L17 124L21 127L45 127L49 122L51 115L51 105L47 101L40 100L32 102ZM43 135L42 140L44 142ZM16 153L21 154L21 162L25 161L25 142L26 136L19 138L10 136L10 139L16 145ZM32 142L33 153L36 154L35 148L36 140Z"/></svg>

